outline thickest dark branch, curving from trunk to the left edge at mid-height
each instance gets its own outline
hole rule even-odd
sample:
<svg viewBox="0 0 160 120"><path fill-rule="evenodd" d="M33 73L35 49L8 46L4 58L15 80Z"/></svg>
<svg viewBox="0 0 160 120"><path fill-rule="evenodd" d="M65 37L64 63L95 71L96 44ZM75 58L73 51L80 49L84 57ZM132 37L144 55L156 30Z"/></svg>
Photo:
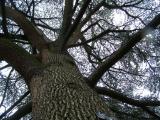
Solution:
<svg viewBox="0 0 160 120"><path fill-rule="evenodd" d="M0 59L13 66L25 78L26 83L36 74L37 67L41 66L41 63L23 48L2 38L0 38Z"/></svg>

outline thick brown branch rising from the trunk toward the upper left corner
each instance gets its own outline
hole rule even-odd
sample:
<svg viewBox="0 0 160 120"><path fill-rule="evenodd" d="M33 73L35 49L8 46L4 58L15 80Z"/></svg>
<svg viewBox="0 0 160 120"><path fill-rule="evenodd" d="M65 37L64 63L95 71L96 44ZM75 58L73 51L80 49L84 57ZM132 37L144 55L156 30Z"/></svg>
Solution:
<svg viewBox="0 0 160 120"><path fill-rule="evenodd" d="M31 43L36 46L40 51L46 48L46 41L44 34L42 34L26 17L9 7L5 7L6 17L15 21L24 31ZM0 6L0 15L2 15L2 8Z"/></svg>

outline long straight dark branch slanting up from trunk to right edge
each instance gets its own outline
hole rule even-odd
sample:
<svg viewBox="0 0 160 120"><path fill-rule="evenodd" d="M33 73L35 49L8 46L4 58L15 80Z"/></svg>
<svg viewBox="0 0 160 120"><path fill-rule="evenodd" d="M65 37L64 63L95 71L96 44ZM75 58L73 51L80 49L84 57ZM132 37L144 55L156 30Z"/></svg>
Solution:
<svg viewBox="0 0 160 120"><path fill-rule="evenodd" d="M160 14L157 15L146 27L130 37L130 39L117 51L113 52L98 68L89 76L90 84L94 87L102 75L127 54L144 36L160 24Z"/></svg>

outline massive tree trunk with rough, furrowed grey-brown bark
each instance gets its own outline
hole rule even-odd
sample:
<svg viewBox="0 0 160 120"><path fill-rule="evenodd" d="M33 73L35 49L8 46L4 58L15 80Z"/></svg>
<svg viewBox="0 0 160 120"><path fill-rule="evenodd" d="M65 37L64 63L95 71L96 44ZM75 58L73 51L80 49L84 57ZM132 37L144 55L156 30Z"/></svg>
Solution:
<svg viewBox="0 0 160 120"><path fill-rule="evenodd" d="M45 61L44 71L30 83L33 120L98 120L97 112L111 115L69 56L47 54Z"/></svg>

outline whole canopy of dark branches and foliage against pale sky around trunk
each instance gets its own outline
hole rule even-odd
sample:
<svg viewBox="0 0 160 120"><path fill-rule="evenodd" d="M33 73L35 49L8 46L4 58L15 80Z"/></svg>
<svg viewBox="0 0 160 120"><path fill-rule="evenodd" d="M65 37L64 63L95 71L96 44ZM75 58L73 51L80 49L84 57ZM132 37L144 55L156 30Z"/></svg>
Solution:
<svg viewBox="0 0 160 120"><path fill-rule="evenodd" d="M118 119L160 119L158 0L1 0L0 23L0 119L32 118L23 71L55 42Z"/></svg>

